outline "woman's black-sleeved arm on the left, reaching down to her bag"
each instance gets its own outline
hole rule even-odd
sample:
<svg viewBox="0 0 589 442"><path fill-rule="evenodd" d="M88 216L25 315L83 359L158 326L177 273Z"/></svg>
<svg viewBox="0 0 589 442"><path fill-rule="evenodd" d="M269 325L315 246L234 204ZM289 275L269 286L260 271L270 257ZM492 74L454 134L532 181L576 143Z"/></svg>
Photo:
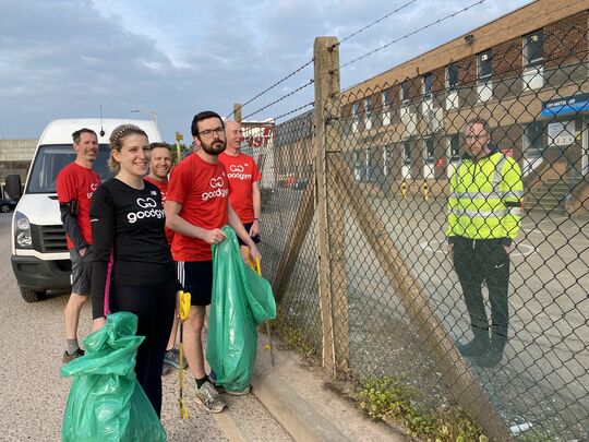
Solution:
<svg viewBox="0 0 589 442"><path fill-rule="evenodd" d="M108 264L112 254L116 235L116 207L110 192L98 188L91 204L91 224L94 260L92 263L92 316L94 330L105 324L105 294L110 287Z"/></svg>

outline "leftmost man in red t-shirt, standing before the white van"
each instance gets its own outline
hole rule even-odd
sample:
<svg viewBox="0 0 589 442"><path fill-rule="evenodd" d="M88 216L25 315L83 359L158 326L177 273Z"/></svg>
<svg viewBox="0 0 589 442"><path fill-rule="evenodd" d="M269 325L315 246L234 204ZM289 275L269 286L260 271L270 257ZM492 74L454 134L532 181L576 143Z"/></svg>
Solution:
<svg viewBox="0 0 589 442"><path fill-rule="evenodd" d="M89 294L86 271L92 252L89 205L94 191L100 186L99 175L92 169L98 156L96 132L80 129L72 133L72 139L75 160L61 169L57 177L61 222L72 260L72 294L63 314L67 341L63 363L84 355L77 343L77 323L82 306Z"/></svg>

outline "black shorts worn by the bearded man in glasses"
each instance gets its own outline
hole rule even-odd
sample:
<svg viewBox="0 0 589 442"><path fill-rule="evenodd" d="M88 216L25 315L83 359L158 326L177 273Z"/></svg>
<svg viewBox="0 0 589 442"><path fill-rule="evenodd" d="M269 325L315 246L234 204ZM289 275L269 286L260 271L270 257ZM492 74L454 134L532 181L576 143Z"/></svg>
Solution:
<svg viewBox="0 0 589 442"><path fill-rule="evenodd" d="M213 292L213 261L178 261L178 280L190 292L191 306L209 306Z"/></svg>

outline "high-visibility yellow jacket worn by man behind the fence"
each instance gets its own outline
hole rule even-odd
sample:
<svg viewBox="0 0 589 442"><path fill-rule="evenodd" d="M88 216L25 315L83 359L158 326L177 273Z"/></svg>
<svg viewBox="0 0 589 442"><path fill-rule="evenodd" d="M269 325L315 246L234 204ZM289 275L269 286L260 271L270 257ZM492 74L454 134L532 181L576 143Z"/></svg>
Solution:
<svg viewBox="0 0 589 442"><path fill-rule="evenodd" d="M465 158L449 180L448 228L456 237L498 239L510 244L519 231L524 183L518 164L494 146L478 160Z"/></svg>

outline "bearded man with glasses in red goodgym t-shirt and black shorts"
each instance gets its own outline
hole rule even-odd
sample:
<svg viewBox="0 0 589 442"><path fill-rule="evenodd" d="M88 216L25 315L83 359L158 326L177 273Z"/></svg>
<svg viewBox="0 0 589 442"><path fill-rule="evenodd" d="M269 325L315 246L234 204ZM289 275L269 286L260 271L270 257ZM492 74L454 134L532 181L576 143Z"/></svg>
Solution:
<svg viewBox="0 0 589 442"><path fill-rule="evenodd" d="M196 381L196 401L207 411L220 413L226 404L206 375L201 341L213 288L211 244L225 239L220 228L229 224L250 248L252 259L260 258L260 252L229 202L229 179L218 162L226 146L221 118L213 111L200 112L192 120L191 131L199 150L170 176L166 225L176 231L172 256L178 261L178 279L192 295L183 342Z"/></svg>

